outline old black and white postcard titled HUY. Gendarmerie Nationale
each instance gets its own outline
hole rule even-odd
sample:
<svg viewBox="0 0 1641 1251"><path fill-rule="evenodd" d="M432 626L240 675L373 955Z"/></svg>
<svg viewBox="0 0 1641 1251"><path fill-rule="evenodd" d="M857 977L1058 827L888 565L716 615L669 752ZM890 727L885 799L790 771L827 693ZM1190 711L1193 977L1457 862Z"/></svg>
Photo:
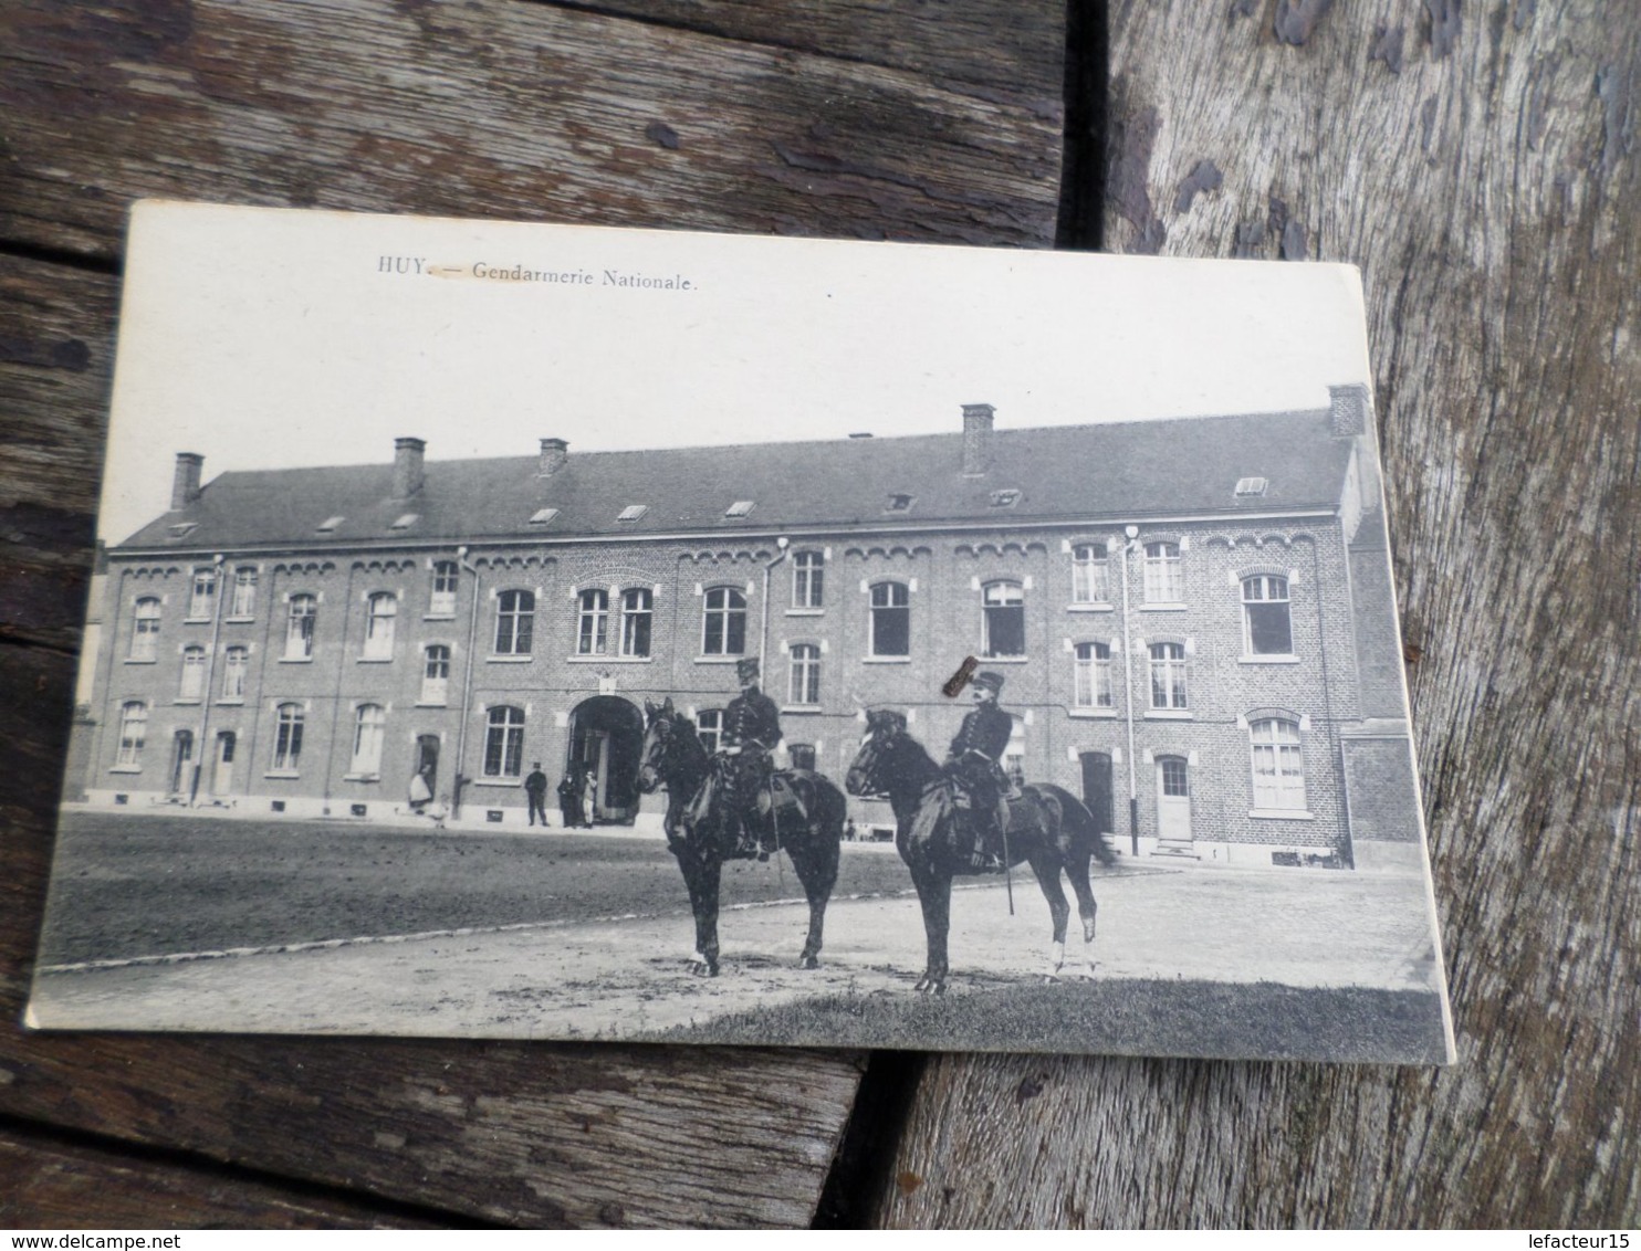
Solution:
<svg viewBox="0 0 1641 1251"><path fill-rule="evenodd" d="M1441 1064L1359 275L149 202L30 1023Z"/></svg>

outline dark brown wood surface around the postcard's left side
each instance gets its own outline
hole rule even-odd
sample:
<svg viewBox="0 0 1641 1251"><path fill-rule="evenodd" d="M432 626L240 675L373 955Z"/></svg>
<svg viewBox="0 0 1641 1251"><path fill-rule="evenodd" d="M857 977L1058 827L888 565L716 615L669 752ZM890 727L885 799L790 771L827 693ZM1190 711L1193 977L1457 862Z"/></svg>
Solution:
<svg viewBox="0 0 1641 1251"><path fill-rule="evenodd" d="M174 195L1044 244L1063 31L1055 7L1031 8L0 10L0 1117L453 1220L809 1220L858 1087L853 1054L16 1026L92 557L123 215ZM263 1182L233 1197L231 1177L202 1169L190 1189L185 1161L166 1159L190 1210L290 1221L277 1195L258 1199ZM0 1167L0 1202L21 1185ZM80 1223L130 1212L87 1199Z"/></svg>

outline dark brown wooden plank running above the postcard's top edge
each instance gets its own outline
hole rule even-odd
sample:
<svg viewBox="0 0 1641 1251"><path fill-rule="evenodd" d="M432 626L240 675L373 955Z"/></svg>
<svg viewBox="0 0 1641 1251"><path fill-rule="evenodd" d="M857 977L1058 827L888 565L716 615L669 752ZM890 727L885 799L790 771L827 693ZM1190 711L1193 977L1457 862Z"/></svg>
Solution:
<svg viewBox="0 0 1641 1251"><path fill-rule="evenodd" d="M870 30L912 48L942 20ZM0 11L0 238L112 257L126 203L164 195L1042 246L1052 25L1011 28L1021 93L497 0L25 0Z"/></svg>

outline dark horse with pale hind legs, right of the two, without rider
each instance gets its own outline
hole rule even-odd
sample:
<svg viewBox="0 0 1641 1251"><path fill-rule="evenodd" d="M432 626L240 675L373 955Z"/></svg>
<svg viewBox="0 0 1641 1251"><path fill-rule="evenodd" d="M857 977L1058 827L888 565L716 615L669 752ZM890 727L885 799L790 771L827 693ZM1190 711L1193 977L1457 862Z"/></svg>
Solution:
<svg viewBox="0 0 1641 1251"><path fill-rule="evenodd" d="M945 990L945 938L952 926L952 879L973 874L968 839L957 830L965 820L955 803L952 780L911 735L898 712L866 713L866 735L845 780L850 795L888 795L894 808L894 846L912 871L922 903L929 961L919 990ZM1060 872L1072 879L1076 912L1083 918L1086 972L1095 969L1095 892L1088 885L1088 861L1116 864L1093 815L1072 792L1045 782L1021 789L1009 800L1009 866L1027 861L1054 913L1054 946L1049 976L1065 967L1065 926L1072 908L1060 889Z"/></svg>

